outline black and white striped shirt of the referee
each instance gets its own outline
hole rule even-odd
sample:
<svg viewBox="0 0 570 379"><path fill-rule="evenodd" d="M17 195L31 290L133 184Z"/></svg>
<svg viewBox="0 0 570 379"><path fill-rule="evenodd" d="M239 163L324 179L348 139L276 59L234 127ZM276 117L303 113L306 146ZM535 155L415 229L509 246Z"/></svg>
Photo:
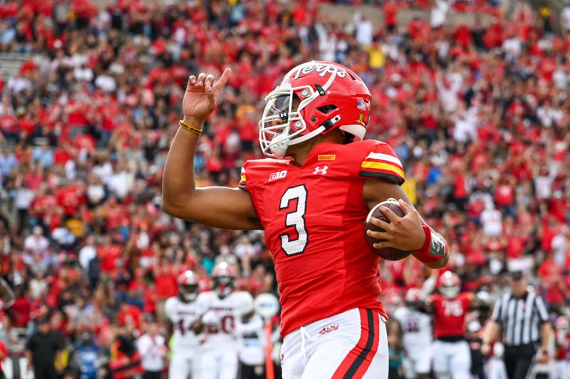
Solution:
<svg viewBox="0 0 570 379"><path fill-rule="evenodd" d="M504 343L507 346L539 341L540 324L549 321L544 301L534 292L519 298L504 294L497 299L491 319L502 324Z"/></svg>

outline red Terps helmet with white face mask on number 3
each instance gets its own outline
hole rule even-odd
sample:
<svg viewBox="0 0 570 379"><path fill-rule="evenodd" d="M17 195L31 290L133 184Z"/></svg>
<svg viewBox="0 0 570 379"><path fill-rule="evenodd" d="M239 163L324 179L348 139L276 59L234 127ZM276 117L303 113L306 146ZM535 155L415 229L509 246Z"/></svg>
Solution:
<svg viewBox="0 0 570 379"><path fill-rule="evenodd" d="M310 61L296 66L265 98L259 121L261 150L282 158L289 146L337 128L362 140L370 101L361 78L338 63Z"/></svg>

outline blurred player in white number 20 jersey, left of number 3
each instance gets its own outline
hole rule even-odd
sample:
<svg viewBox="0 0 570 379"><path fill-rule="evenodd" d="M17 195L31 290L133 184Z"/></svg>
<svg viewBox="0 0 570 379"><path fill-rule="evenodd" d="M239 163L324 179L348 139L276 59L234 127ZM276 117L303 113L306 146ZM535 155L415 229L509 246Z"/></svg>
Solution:
<svg viewBox="0 0 570 379"><path fill-rule="evenodd" d="M227 262L212 271L214 291L203 292L197 301L207 309L202 316L202 359L200 379L235 379L239 366L239 338L242 323L254 315L254 298L249 292L234 291L236 274Z"/></svg>

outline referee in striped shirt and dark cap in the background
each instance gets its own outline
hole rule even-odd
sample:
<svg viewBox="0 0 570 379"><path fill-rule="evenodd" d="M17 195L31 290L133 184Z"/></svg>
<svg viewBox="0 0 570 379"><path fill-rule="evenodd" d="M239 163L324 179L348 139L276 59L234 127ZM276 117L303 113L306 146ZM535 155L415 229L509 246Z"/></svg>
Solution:
<svg viewBox="0 0 570 379"><path fill-rule="evenodd" d="M491 321L484 331L481 351L489 354L490 344L502 330L507 375L509 379L522 379L527 377L535 355L537 362L548 360L552 328L544 301L528 291L523 272L511 272L509 282L511 292L497 299Z"/></svg>

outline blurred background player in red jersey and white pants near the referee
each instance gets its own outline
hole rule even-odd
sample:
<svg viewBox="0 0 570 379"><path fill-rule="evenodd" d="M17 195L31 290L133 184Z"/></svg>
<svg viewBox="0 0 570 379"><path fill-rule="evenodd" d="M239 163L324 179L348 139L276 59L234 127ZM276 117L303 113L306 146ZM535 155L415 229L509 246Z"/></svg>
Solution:
<svg viewBox="0 0 570 379"><path fill-rule="evenodd" d="M469 379L471 353L465 338L465 316L473 295L461 292L457 274L445 271L437 281L439 294L432 294L434 336L433 370L437 378Z"/></svg>

